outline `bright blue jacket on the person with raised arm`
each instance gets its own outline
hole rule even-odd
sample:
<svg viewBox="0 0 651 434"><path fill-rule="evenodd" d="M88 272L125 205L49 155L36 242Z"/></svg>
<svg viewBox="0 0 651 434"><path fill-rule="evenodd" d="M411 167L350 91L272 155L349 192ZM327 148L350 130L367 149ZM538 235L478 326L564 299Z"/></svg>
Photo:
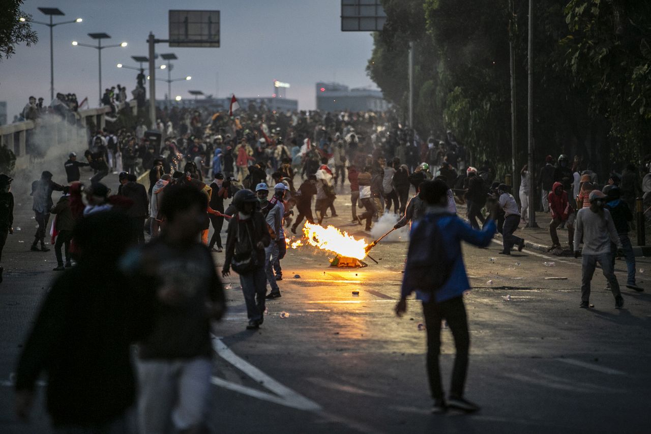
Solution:
<svg viewBox="0 0 651 434"><path fill-rule="evenodd" d="M443 284L443 286L432 293L432 291L422 291L418 287L409 287L404 285L406 280L403 280L402 297L407 297L413 291L416 291L416 298L422 302L430 302L432 294L434 294L434 301L437 303L450 300L450 298L460 297L466 289L470 289L470 282L465 272L464 257L461 250L461 242L465 241L475 246L486 247L490 244L495 233L495 222L488 220L484 225L484 229L477 231L470 227L456 215L447 214L447 210L441 207L429 207L427 214L445 214L435 222L439 225L441 235L445 241L446 251L449 258L454 261L452 264L452 273L450 278ZM426 220L419 220L414 222L411 226L411 233L419 224L424 224ZM412 240L411 242L430 242L429 240ZM408 270L405 270L405 277ZM413 282L413 280L410 280Z"/></svg>

